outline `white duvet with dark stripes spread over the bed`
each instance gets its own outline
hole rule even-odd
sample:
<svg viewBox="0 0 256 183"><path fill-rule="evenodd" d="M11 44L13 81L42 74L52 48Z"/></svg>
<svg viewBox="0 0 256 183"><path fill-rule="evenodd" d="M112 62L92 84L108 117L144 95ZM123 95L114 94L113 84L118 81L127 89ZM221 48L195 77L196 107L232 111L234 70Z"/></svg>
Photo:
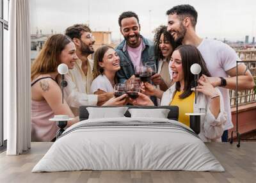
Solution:
<svg viewBox="0 0 256 183"><path fill-rule="evenodd" d="M94 123L121 125L81 127ZM140 126L141 123L154 123ZM168 122L166 126L160 122ZM122 123L137 124L124 126ZM172 124L172 127L168 125ZM178 126L177 126L178 125ZM163 118L84 120L53 143L32 172L72 170L225 171L205 144L182 123ZM77 128L77 129L76 129ZM74 130L75 129L75 130Z"/></svg>

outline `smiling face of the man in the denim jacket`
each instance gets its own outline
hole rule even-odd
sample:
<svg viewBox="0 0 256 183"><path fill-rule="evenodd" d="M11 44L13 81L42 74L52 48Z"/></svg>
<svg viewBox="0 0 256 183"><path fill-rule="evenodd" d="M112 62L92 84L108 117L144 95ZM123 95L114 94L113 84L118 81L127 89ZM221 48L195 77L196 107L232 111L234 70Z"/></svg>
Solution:
<svg viewBox="0 0 256 183"><path fill-rule="evenodd" d="M120 31L129 47L140 45L140 24L135 17L122 19Z"/></svg>

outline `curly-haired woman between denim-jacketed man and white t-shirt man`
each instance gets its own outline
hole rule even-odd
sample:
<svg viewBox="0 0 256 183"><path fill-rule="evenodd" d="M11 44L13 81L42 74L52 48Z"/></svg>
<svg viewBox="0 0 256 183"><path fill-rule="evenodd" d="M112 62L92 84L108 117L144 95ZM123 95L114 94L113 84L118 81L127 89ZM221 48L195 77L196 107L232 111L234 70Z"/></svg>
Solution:
<svg viewBox="0 0 256 183"><path fill-rule="evenodd" d="M172 35L168 33L166 26L159 26L154 35L154 44L157 61L157 74L151 77L157 88L166 91L172 85L169 74L169 62L172 52L177 47ZM159 102L158 102L159 103Z"/></svg>

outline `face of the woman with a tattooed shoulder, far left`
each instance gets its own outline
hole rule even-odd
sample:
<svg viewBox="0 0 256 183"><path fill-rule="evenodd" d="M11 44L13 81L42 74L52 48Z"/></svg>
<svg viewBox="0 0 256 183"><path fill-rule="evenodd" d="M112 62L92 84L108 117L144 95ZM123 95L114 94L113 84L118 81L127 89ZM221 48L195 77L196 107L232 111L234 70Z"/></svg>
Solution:
<svg viewBox="0 0 256 183"><path fill-rule="evenodd" d="M68 69L72 69L74 68L76 60L76 46L73 42L70 42L65 46L63 51L61 51L60 61L61 63L65 63L68 66Z"/></svg>

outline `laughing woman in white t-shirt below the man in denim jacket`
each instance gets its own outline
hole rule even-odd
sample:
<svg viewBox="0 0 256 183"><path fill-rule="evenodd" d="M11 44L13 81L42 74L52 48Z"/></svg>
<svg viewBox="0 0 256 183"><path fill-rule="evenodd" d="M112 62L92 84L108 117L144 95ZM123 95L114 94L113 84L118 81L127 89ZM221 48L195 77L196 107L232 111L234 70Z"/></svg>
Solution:
<svg viewBox="0 0 256 183"><path fill-rule="evenodd" d="M116 72L120 70L120 58L115 49L109 45L99 47L94 54L93 65L93 81L91 86L91 93L102 94L106 92L114 92L114 86L116 84ZM125 95L125 94L124 94ZM125 96L120 96L118 105L125 104ZM118 99L118 97L116 98ZM107 102L108 103L108 102ZM106 103L104 104L106 105Z"/></svg>

